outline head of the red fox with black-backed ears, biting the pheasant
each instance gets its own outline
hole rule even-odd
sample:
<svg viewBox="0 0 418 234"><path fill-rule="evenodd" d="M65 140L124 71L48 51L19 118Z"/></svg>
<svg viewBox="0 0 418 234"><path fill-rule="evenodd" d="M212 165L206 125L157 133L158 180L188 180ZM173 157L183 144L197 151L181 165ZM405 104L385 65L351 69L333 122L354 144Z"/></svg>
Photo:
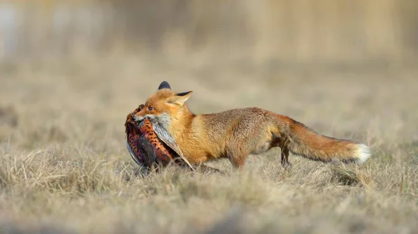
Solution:
<svg viewBox="0 0 418 234"><path fill-rule="evenodd" d="M192 95L192 91L176 93L171 90L167 81L163 81L144 103L144 108L134 115L136 121L148 117L156 120L163 128L168 130L173 119L181 119L189 110L185 101Z"/></svg>

